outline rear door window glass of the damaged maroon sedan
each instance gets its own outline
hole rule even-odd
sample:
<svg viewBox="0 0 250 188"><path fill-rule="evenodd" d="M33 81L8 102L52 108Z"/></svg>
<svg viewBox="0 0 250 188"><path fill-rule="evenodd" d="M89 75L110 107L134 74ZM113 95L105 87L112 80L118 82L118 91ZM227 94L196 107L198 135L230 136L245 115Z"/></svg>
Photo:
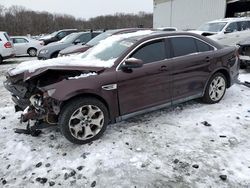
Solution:
<svg viewBox="0 0 250 188"><path fill-rule="evenodd" d="M197 53L195 39L191 37L176 37L170 39L173 47L173 56L185 56Z"/></svg>

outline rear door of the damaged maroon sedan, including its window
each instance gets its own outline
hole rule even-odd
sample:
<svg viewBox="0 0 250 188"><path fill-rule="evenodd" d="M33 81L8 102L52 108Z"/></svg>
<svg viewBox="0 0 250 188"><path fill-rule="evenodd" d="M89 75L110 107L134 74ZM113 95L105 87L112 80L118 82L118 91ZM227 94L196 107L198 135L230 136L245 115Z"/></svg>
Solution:
<svg viewBox="0 0 250 188"><path fill-rule="evenodd" d="M188 36L169 40L173 58L173 101L201 96L210 74L210 64L215 61L214 47Z"/></svg>

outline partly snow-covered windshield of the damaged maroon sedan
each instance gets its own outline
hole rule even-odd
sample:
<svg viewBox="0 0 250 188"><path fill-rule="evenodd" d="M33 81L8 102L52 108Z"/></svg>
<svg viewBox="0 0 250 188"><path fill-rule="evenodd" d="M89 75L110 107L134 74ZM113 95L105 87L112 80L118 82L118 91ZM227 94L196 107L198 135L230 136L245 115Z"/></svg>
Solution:
<svg viewBox="0 0 250 188"><path fill-rule="evenodd" d="M108 42L109 41L109 42ZM129 47L134 44L131 39L115 40L111 37L110 40L105 40L95 47L88 50L81 57L84 59L95 59L99 61L116 60Z"/></svg>

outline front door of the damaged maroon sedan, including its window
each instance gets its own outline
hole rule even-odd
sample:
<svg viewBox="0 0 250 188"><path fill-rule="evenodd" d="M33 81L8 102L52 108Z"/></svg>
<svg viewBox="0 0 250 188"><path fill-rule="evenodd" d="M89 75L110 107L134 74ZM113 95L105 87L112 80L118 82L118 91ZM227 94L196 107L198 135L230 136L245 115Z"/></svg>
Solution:
<svg viewBox="0 0 250 188"><path fill-rule="evenodd" d="M129 56L143 60L143 67L118 70L120 115L171 102L168 52L164 39L147 42Z"/></svg>

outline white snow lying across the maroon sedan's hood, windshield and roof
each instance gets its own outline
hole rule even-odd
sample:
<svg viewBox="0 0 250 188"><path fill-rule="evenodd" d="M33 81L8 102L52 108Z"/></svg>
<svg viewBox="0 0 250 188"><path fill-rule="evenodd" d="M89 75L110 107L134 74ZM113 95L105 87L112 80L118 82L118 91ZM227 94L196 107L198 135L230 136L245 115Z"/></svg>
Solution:
<svg viewBox="0 0 250 188"><path fill-rule="evenodd" d="M27 61L19 64L15 69L10 70L10 75L17 75L25 71L34 72L40 68L48 68L55 66L88 66L88 67L104 67L110 68L114 65L114 62L117 58L111 58L107 61L100 60L96 57L96 54L102 52L104 49L111 47L115 42L120 41L125 38L134 37L134 36L143 36L152 33L151 30L138 31L134 33L113 35L108 37L90 49L91 52L87 55L77 55L74 57L59 57L55 59L49 59L45 61ZM84 56L84 57L83 57Z"/></svg>

